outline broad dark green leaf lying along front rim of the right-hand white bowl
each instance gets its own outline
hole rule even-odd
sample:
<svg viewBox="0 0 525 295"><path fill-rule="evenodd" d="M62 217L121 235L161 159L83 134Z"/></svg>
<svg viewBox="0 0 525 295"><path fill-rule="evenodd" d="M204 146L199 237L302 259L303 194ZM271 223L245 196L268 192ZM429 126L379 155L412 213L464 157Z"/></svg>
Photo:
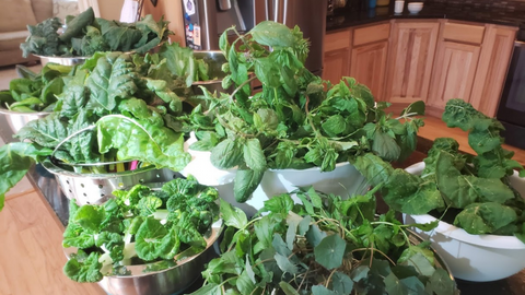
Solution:
<svg viewBox="0 0 525 295"><path fill-rule="evenodd" d="M467 205L454 220L454 225L471 235L491 234L517 220L516 212L495 202Z"/></svg>

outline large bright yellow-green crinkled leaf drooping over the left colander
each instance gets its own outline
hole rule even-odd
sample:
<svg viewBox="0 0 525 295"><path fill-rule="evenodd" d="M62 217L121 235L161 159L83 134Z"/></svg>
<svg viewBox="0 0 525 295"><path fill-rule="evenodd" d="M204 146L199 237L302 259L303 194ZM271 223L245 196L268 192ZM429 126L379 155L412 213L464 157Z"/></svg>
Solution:
<svg viewBox="0 0 525 295"><path fill-rule="evenodd" d="M96 128L100 152L116 149L120 161L138 160L178 172L191 160L184 151L184 138L170 128L121 115L101 118Z"/></svg>

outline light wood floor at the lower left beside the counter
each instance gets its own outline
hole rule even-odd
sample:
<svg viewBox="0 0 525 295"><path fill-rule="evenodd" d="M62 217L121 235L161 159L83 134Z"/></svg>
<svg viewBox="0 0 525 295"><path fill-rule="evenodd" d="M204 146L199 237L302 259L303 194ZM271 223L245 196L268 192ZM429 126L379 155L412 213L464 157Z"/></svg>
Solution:
<svg viewBox="0 0 525 295"><path fill-rule="evenodd" d="M9 88L15 78L14 67L0 68L0 90ZM7 193L0 212L0 295L105 294L96 284L79 284L63 275L62 232L55 212L24 177Z"/></svg>

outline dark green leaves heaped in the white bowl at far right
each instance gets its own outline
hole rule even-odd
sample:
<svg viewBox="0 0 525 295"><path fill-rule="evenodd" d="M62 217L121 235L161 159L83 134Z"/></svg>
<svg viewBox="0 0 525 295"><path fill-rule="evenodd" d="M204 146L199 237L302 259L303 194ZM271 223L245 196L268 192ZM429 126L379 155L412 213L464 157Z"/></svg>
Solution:
<svg viewBox="0 0 525 295"><path fill-rule="evenodd" d="M459 152L458 143L440 138L424 158L421 175L393 169L372 155L358 158L355 167L374 185L385 184L383 198L394 210L425 214L433 210L452 215L454 225L469 234L515 235L525 243L525 202L509 177L525 176L502 148L503 126L462 99L447 102L442 117L447 127L468 131L477 155ZM516 173L515 173L516 170Z"/></svg>

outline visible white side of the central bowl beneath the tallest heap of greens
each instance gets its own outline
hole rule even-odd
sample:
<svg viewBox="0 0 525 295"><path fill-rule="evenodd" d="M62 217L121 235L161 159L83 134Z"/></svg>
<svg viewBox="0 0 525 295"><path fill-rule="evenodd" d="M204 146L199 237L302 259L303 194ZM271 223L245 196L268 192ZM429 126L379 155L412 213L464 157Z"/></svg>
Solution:
<svg viewBox="0 0 525 295"><path fill-rule="evenodd" d="M186 142L189 146L196 139ZM323 173L320 168L308 169L268 169L257 189L245 203L238 203L233 196L233 181L236 169L221 170L210 162L210 152L188 150L191 161L180 172L184 176L192 175L197 180L219 190L219 196L229 203L241 208L248 217L262 209L264 202L273 196L296 190L299 187L314 186L318 191L341 197L361 193L366 188L364 177L349 163L339 163L336 169ZM295 201L299 201L295 200Z"/></svg>

